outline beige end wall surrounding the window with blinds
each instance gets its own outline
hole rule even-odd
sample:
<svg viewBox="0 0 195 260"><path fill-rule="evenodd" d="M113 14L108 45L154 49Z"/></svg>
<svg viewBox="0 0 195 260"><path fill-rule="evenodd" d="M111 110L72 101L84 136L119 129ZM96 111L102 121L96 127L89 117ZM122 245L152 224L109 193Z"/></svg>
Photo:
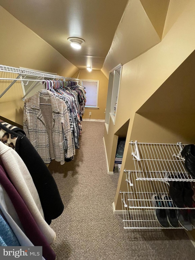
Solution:
<svg viewBox="0 0 195 260"><path fill-rule="evenodd" d="M88 72L87 69L80 70L79 78L84 80L99 80L99 96L98 96L99 109L85 108L83 119L84 118L105 119L108 79L104 76L104 74L100 70L92 70L91 72ZM91 112L91 116L89 116L89 112Z"/></svg>

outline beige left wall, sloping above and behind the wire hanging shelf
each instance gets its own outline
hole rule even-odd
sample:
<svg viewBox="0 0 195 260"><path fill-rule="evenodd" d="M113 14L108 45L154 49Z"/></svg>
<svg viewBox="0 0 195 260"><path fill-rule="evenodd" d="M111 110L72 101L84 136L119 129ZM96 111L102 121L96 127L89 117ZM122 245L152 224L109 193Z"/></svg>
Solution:
<svg viewBox="0 0 195 260"><path fill-rule="evenodd" d="M0 64L57 73L64 77L71 77L78 70L53 47L1 6L0 24ZM16 78L17 74L2 73L1 77ZM0 80L1 93L10 83L11 81ZM21 84L15 83L0 99L1 116L22 124L22 97Z"/></svg>

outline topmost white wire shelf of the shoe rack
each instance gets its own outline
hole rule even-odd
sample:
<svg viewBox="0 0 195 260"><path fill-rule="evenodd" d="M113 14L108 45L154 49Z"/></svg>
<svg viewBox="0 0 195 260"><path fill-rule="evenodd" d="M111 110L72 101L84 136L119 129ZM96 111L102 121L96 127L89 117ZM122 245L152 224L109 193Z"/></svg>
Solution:
<svg viewBox="0 0 195 260"><path fill-rule="evenodd" d="M130 142L136 180L195 181L184 167L181 151L186 144Z"/></svg>

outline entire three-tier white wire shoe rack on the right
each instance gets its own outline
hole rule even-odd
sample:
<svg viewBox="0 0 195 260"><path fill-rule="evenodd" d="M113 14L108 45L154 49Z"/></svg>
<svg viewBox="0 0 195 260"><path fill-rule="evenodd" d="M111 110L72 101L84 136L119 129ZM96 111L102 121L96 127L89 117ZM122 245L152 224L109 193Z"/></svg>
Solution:
<svg viewBox="0 0 195 260"><path fill-rule="evenodd" d="M169 196L169 182L195 181L184 168L181 151L184 144L130 142L135 170L124 170L127 191L122 192L122 212L125 229L183 228L162 227L155 216L156 209L178 208ZM158 198L155 195L158 194ZM160 203L159 203L160 202ZM159 205L159 206L157 206Z"/></svg>

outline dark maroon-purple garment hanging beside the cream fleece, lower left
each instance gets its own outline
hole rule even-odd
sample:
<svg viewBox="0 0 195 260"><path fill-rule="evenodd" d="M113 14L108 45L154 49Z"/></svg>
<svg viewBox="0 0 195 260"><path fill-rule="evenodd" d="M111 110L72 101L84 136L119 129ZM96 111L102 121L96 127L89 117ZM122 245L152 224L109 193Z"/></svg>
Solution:
<svg viewBox="0 0 195 260"><path fill-rule="evenodd" d="M19 220L23 226L26 236L34 244L34 246L42 246L43 257L46 260L54 260L55 252L51 249L41 230L37 226L34 218L32 217L30 211L28 210L23 199L20 197L19 193L16 191L13 184L8 179L5 170L0 165L0 183L7 192L10 200L16 212L18 214Z"/></svg>

